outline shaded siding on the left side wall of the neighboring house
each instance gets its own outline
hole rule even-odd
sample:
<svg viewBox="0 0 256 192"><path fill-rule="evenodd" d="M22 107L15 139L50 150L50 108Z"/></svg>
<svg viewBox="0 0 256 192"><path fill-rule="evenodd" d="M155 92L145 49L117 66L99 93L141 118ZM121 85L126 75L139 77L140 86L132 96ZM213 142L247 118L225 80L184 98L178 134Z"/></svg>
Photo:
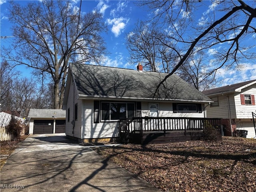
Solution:
<svg viewBox="0 0 256 192"><path fill-rule="evenodd" d="M218 96L219 106L206 107L207 118L229 118L228 116L228 104L230 108L231 118L236 118L236 109L234 104L234 94L219 95Z"/></svg>

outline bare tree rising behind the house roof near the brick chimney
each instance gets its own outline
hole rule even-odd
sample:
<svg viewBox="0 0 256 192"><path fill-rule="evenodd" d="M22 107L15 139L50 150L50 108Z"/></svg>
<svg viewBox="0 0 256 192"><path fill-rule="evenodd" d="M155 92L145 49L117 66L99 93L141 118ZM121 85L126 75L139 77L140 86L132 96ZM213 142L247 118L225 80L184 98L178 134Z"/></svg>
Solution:
<svg viewBox="0 0 256 192"><path fill-rule="evenodd" d="M138 22L126 35L130 64L141 63L149 71L169 72L172 50L162 46L160 36L154 23Z"/></svg>

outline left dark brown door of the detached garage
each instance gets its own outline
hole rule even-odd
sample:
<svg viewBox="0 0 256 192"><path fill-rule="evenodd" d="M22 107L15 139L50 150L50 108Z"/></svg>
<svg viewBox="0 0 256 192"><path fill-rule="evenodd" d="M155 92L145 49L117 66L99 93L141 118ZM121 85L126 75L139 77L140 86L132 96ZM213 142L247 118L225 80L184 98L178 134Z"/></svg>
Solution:
<svg viewBox="0 0 256 192"><path fill-rule="evenodd" d="M53 133L53 120L34 120L33 134Z"/></svg>

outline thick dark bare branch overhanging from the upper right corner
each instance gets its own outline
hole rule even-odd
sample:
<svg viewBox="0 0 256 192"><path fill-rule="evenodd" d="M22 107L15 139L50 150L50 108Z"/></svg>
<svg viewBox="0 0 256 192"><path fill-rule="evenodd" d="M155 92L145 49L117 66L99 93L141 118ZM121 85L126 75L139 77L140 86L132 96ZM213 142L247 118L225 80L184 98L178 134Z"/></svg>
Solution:
<svg viewBox="0 0 256 192"><path fill-rule="evenodd" d="M140 1L140 6L147 6L154 13L150 22L157 22L158 28L164 29L165 32L159 39L162 45L176 52L173 60L176 65L160 84L196 52L211 51L212 59L208 67L211 69L209 74L213 75L222 67L240 68L243 62L256 58L256 53L252 50L255 46L252 35L256 32L253 24L256 2L212 1L209 11L198 21L195 16L198 9L205 6L204 3L187 0ZM248 38L252 41L244 41ZM178 46L173 46L173 42Z"/></svg>

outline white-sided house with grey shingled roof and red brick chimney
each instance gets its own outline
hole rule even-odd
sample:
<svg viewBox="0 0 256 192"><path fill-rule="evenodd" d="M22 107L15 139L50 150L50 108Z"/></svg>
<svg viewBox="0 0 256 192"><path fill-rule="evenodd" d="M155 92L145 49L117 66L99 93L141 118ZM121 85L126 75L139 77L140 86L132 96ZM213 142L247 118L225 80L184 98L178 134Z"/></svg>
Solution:
<svg viewBox="0 0 256 192"><path fill-rule="evenodd" d="M70 64L64 96L66 135L80 142L119 136L120 119L132 117L204 117L212 102L176 75L156 88L167 74ZM156 92L156 94L155 94Z"/></svg>

